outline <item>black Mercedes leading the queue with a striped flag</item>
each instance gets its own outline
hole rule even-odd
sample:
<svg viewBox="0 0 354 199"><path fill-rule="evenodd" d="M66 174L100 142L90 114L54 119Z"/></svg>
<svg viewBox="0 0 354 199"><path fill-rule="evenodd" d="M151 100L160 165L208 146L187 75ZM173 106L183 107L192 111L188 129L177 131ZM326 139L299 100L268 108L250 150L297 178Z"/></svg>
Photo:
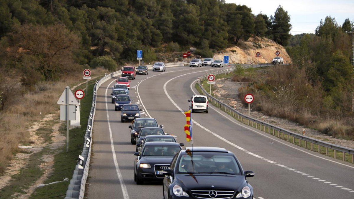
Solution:
<svg viewBox="0 0 354 199"><path fill-rule="evenodd" d="M146 143L148 144L148 143ZM163 171L163 198L230 199L253 198L253 188L236 156L217 147L188 147L181 150Z"/></svg>

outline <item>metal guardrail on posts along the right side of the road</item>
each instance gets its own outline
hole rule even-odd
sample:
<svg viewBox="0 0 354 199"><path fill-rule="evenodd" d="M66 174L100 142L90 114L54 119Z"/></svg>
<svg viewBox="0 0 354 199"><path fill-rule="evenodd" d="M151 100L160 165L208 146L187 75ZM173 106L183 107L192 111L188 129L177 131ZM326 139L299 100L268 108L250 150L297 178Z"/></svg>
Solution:
<svg viewBox="0 0 354 199"><path fill-rule="evenodd" d="M274 65L274 64L256 64L256 65L249 65L249 66L245 66L245 68L256 68L257 67L263 67L263 66L270 66L270 65ZM234 70L234 68L231 69L224 69L224 70L220 70L220 71L216 71L216 72L212 72L210 74L214 74L214 75L218 75L218 74L224 74L224 73L230 73ZM218 99L216 99L215 97L209 95L209 93L204 89L204 87L200 84L201 81L205 80L207 78L207 75L201 76L200 80L198 81L198 85L202 90L203 95L208 97L208 100L211 101L212 103L216 104L216 106L220 109L222 109L224 112L230 114L231 116L233 116L234 118L240 120L242 123L247 124L249 126L255 127L256 129L262 130L263 127L263 131L267 132L266 130L268 130L267 133L271 133L272 130L272 134L275 135L275 132L277 132L277 137L280 137L280 133L282 134L282 139L284 140L284 135L287 135L287 141L290 141L290 137L292 137L292 142L295 144L295 140L298 139L298 145L301 146L301 141L304 142L304 146L305 148L308 148L308 142L310 143L310 149L312 151L314 151L314 144L318 145L318 149L317 152L320 153L321 151L321 147L325 147L326 149L326 155L328 156L329 151L328 149L332 149L333 150L333 158L337 159L337 152L342 152L342 160L345 161L345 157L346 154L349 154L351 156L351 162L354 163L354 149L352 148L347 148L347 147L342 147L342 146L338 146L336 144L330 144L328 142L324 142L324 141L320 141L320 140L316 140L314 138L310 138L307 136L302 136L299 135L297 133L288 131L286 129L282 129L280 127L265 123L263 121L251 118L247 115L244 115L240 112L238 112L237 110L235 110L234 108L228 106L227 104L224 104L223 102L219 101ZM267 128L267 129L266 129Z"/></svg>

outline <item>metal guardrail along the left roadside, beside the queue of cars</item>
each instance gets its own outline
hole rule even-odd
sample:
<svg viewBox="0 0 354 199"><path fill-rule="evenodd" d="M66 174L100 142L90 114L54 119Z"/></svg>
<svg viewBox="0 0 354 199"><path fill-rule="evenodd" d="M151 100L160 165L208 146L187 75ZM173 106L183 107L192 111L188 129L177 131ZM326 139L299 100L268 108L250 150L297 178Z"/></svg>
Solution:
<svg viewBox="0 0 354 199"><path fill-rule="evenodd" d="M176 66L184 66L185 64L189 64L186 62L177 62L177 63L166 63L165 66L176 67ZM152 65L148 66L148 69L151 69ZM90 110L90 117L87 122L86 133L84 136L84 147L82 149L81 155L79 155L78 164L75 166L75 170L70 180L70 184L68 190L66 192L65 199L83 199L85 194L85 184L87 177L89 175L89 166L91 159L91 144L92 144L92 130L93 130L93 120L95 119L96 112L96 93L98 88L108 81L111 78L119 76L122 74L121 70L110 73L103 78L96 81L95 86L93 87L93 97L92 97L92 106Z"/></svg>

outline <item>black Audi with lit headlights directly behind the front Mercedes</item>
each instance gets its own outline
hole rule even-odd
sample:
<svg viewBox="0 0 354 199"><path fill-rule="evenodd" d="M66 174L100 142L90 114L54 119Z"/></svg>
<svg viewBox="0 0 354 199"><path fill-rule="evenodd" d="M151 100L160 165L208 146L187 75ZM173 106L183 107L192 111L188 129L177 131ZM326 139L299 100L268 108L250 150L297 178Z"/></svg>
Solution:
<svg viewBox="0 0 354 199"><path fill-rule="evenodd" d="M162 171L170 168L175 154L182 149L176 142L147 142L136 155L134 181L143 184L144 181L164 179Z"/></svg>

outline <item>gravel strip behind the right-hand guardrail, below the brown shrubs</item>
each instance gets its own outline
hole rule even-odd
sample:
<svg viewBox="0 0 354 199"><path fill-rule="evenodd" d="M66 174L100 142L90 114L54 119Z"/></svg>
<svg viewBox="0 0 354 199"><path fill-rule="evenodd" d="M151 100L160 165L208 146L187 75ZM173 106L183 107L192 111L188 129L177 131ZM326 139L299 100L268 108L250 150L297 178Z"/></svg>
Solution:
<svg viewBox="0 0 354 199"><path fill-rule="evenodd" d="M244 106L244 104L242 104L241 100L238 98L238 89L241 86L244 86L244 83L231 81L231 78L222 78L216 80L215 86L218 89L214 90L213 93L217 99L219 99L225 104L228 104L231 107L234 107L242 114L248 114L248 107ZM281 127L299 135L302 135L302 131L303 129L305 129L305 136L307 137L312 137L317 140L354 149L354 141L351 140L334 138L319 131L301 126L300 124L292 121L264 115L262 112L251 110L250 115L252 118L264 120L264 122L266 123Z"/></svg>

